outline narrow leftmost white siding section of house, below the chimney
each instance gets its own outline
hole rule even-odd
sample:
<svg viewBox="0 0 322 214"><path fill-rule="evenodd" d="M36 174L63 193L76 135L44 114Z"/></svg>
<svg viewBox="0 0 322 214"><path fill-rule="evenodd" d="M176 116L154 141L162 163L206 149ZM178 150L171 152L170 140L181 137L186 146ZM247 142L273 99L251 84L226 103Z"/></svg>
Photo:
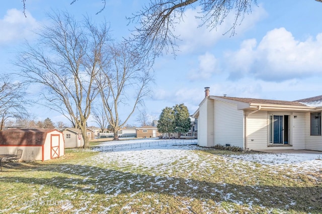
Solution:
<svg viewBox="0 0 322 214"><path fill-rule="evenodd" d="M198 145L213 146L214 145L214 110L212 99L205 99L199 106L198 117Z"/></svg>

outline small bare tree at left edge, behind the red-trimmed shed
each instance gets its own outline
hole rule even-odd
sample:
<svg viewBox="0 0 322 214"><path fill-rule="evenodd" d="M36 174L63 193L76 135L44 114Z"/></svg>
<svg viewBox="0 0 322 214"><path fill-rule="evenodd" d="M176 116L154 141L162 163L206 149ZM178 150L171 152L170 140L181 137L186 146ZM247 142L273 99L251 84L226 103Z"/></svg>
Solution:
<svg viewBox="0 0 322 214"><path fill-rule="evenodd" d="M8 75L0 76L0 131L9 118L21 118L26 113L26 93L22 83L13 82Z"/></svg>

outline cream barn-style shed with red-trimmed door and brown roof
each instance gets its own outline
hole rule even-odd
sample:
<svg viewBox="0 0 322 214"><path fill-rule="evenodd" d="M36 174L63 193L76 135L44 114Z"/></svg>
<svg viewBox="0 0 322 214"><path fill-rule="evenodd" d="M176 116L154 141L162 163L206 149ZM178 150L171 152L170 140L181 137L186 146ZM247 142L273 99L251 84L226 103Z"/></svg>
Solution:
<svg viewBox="0 0 322 214"><path fill-rule="evenodd" d="M15 154L23 149L21 160L49 160L64 156L64 139L56 129L8 129L0 132L0 153Z"/></svg>

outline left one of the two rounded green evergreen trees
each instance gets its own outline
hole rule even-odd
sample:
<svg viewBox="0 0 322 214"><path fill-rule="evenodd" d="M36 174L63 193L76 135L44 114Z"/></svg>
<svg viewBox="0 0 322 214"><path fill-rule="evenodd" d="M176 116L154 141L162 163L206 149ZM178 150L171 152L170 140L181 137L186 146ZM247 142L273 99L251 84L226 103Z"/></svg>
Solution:
<svg viewBox="0 0 322 214"><path fill-rule="evenodd" d="M175 131L175 114L174 110L170 107L166 107L162 110L158 123L157 123L157 129L160 133L168 133L168 136L170 136L171 132Z"/></svg>

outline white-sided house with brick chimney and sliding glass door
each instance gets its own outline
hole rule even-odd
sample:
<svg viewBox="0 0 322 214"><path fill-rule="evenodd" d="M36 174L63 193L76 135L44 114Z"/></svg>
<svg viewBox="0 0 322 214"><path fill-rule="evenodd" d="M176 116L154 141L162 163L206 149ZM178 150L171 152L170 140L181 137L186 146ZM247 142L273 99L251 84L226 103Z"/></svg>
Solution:
<svg viewBox="0 0 322 214"><path fill-rule="evenodd" d="M322 96L297 101L210 96L193 114L198 144L229 144L244 150L322 151Z"/></svg>

